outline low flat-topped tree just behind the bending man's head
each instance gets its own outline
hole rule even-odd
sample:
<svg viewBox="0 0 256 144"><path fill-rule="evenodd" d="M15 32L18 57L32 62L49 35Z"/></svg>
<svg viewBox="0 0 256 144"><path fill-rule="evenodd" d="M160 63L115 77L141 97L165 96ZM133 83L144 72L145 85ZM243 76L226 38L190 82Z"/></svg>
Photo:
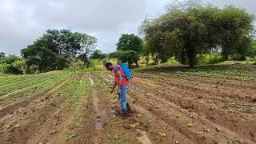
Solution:
<svg viewBox="0 0 256 144"><path fill-rule="evenodd" d="M128 62L128 66L130 67L132 63L136 63L138 66L139 54L133 50L127 51L115 51L107 55L108 58L116 58L118 62L126 63Z"/></svg>

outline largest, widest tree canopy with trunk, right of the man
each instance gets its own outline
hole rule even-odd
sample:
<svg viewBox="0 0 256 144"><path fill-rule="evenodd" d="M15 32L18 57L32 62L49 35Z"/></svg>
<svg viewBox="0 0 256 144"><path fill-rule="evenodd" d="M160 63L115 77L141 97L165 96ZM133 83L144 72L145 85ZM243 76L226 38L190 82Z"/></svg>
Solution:
<svg viewBox="0 0 256 144"><path fill-rule="evenodd" d="M243 38L250 37L254 16L234 6L219 9L195 3L170 6L166 14L141 26L146 50L162 61L176 56L194 66L197 54L222 48L226 57L231 48L242 49Z"/></svg>

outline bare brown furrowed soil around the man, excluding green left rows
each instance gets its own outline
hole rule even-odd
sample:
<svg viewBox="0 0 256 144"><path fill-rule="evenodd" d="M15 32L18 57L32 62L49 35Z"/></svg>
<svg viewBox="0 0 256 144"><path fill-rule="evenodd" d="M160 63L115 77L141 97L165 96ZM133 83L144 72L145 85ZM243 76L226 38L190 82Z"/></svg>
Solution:
<svg viewBox="0 0 256 144"><path fill-rule="evenodd" d="M109 74L76 74L91 84L81 105L60 97L62 82L44 95L0 110L0 143L256 143L255 86L214 78L138 74L122 119ZM117 91L116 91L117 92Z"/></svg>

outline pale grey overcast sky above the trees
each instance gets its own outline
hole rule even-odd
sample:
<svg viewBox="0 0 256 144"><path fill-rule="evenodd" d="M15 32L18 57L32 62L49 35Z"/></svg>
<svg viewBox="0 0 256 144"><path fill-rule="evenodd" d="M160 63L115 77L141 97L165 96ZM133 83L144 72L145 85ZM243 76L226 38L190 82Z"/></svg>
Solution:
<svg viewBox="0 0 256 144"><path fill-rule="evenodd" d="M233 4L256 14L255 0L203 0ZM116 50L121 34L138 34L143 19L155 18L172 0L0 0L0 51L19 54L47 29L70 29L98 38L98 49Z"/></svg>

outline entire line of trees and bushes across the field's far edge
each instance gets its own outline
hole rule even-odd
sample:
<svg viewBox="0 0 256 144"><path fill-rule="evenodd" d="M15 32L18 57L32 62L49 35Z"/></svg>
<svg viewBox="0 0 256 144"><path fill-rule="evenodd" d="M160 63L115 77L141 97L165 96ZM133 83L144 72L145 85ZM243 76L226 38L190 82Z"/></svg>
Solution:
<svg viewBox="0 0 256 144"><path fill-rule="evenodd" d="M109 58L129 66L149 55L155 63L176 58L193 67L197 62L256 59L254 15L234 6L218 8L200 1L174 2L158 18L146 18L142 38L122 34L117 51L95 50L97 38L70 30L46 30L41 38L21 50L22 57L0 53L0 73L35 74L67 67L90 66L90 60ZM216 53L217 52L217 53ZM216 54L215 54L216 53Z"/></svg>

